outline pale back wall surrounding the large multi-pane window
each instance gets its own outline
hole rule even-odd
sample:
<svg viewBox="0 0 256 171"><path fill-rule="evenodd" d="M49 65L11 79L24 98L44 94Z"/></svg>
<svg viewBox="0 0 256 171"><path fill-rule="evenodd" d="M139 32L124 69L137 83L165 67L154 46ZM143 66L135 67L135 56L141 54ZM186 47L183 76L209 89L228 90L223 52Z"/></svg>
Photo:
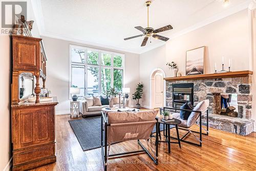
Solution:
<svg viewBox="0 0 256 171"><path fill-rule="evenodd" d="M125 87L131 88L130 98L140 80L139 55L103 49L76 42L60 40L50 37L42 37L47 53L47 80L46 87L51 90L52 96L57 96L59 104L56 106L57 113L67 113L70 109L69 102L69 58L70 45L84 46L125 54ZM133 101L134 103L134 101Z"/></svg>

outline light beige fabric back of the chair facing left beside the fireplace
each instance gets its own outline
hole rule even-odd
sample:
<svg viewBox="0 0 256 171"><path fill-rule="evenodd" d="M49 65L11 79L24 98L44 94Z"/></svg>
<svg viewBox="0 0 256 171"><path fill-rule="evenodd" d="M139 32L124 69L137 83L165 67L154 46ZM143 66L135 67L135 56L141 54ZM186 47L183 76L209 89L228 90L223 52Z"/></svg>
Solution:
<svg viewBox="0 0 256 171"><path fill-rule="evenodd" d="M207 110L208 106L209 106L209 100L207 99L207 100L204 100L204 101L199 102L199 103L195 106L195 108L193 109L193 111L204 112L204 111ZM199 115L200 115L200 114L199 114L198 112L192 112L192 113L189 115L188 119L187 119L187 126L188 126L188 127L192 126L192 125L196 122L196 120L198 119L198 116L199 116Z"/></svg>

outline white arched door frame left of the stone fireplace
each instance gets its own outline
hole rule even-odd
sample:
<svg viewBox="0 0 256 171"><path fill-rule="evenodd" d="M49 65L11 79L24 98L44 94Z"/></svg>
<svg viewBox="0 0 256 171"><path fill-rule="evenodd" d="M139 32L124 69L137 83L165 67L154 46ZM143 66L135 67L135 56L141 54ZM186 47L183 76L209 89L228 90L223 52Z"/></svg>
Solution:
<svg viewBox="0 0 256 171"><path fill-rule="evenodd" d="M155 68L154 70L152 70L151 74L150 74L150 109L154 108L154 104L152 103L152 98L154 98L153 96L153 86L152 86L152 82L155 81L155 74L157 72L161 72L163 74L163 77L165 78L165 72L163 69L161 68ZM163 106L165 106L166 103L166 81L163 80Z"/></svg>

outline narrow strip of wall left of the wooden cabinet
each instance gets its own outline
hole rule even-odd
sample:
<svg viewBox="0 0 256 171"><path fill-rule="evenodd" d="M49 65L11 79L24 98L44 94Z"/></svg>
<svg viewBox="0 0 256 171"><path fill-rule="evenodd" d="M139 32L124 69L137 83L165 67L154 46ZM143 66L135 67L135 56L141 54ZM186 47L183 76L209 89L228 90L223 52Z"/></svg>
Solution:
<svg viewBox="0 0 256 171"><path fill-rule="evenodd" d="M10 81L11 81L11 41L9 36L0 36L0 170L9 162L11 152L11 110L10 110Z"/></svg>

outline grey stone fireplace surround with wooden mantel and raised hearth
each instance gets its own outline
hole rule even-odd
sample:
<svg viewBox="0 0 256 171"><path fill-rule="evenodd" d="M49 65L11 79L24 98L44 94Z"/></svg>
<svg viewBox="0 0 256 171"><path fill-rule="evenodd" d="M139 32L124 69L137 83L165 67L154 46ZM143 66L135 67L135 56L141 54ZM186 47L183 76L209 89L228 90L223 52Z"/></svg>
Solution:
<svg viewBox="0 0 256 171"><path fill-rule="evenodd" d="M189 78L191 76L165 78L166 106L173 106L173 83L194 83L194 105L199 101L209 99L210 127L239 135L248 135L253 132L254 121L251 120L251 74L234 75L234 72L230 72L200 76L192 76L191 79ZM232 100L236 101L235 104L230 106L236 108L234 111L238 113L237 117L220 115L222 94L231 94ZM205 115L202 120L205 124Z"/></svg>

